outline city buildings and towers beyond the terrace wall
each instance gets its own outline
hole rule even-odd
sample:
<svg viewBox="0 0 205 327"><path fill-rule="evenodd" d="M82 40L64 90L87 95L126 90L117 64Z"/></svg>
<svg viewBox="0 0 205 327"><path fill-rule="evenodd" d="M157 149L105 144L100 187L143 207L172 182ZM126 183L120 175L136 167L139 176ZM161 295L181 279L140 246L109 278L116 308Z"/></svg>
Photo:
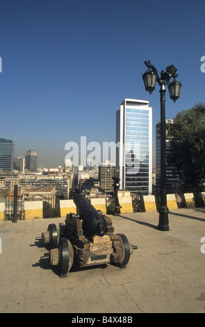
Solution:
<svg viewBox="0 0 205 327"><path fill-rule="evenodd" d="M172 120L167 120L172 123ZM18 185L24 200L68 199L76 189L91 197L113 192L113 177L120 177L120 190L138 196L160 189L160 133L156 125L156 167L152 166L152 108L148 101L124 99L116 111L116 162L110 160L95 166L44 167L38 163L38 150L26 150L25 157L14 157L12 140L0 138L0 196L13 193ZM170 143L167 138L167 153ZM123 145L123 146L121 146ZM177 185L174 168L167 169L167 191Z"/></svg>

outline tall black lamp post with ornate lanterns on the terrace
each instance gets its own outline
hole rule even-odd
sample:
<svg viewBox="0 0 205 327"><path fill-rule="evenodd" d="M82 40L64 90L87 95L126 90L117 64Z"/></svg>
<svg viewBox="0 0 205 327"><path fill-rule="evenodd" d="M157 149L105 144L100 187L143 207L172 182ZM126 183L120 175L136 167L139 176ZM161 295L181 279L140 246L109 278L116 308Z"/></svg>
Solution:
<svg viewBox="0 0 205 327"><path fill-rule="evenodd" d="M155 89L156 81L160 88L160 101L161 101L161 191L160 191L160 207L158 209L159 221L158 230L167 231L169 227L169 208L167 207L167 191L166 191L166 118L165 118L165 86L167 85L170 98L176 102L179 99L181 92L181 83L176 81L178 74L177 68L174 65L167 66L166 72L161 71L161 77L158 76L158 72L154 65L151 65L150 61L145 61L145 65L148 67L147 72L142 75L142 79L145 83L145 90L150 94ZM170 79L173 81L170 82Z"/></svg>

